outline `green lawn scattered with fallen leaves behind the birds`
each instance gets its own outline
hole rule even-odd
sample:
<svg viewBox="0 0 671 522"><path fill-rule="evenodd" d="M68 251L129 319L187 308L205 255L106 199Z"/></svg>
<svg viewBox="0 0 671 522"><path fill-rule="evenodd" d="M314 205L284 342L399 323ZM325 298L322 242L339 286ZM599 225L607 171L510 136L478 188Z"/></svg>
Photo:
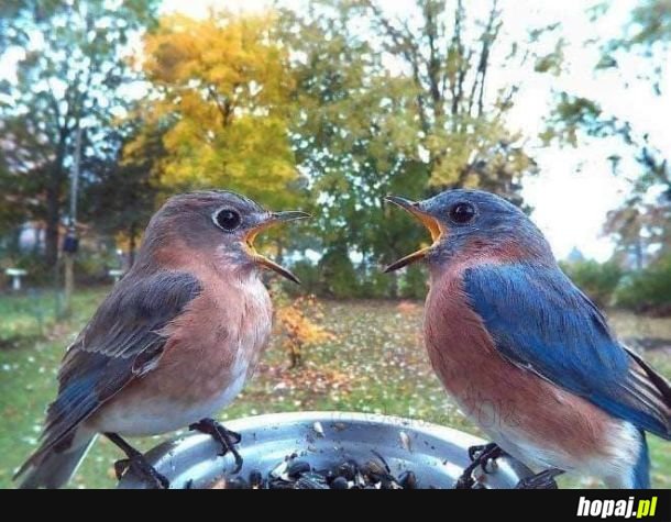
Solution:
<svg viewBox="0 0 671 522"><path fill-rule="evenodd" d="M86 323L103 290L75 298L75 315L56 322L55 297L0 297L0 488L11 487L14 469L35 448L44 409L56 391L55 375L65 346ZM40 308L41 311L36 312ZM287 369L279 343L273 343L244 392L221 420L296 410L348 410L422 419L477 433L457 410L433 375L421 345L421 307L389 301L324 302L334 338L308 349L305 367ZM671 340L671 320L649 320L615 313L624 336ZM647 354L667 377L671 351ZM138 442L150 448L162 437ZM671 452L650 437L653 485L671 488ZM99 440L75 476L72 487L113 487L112 465L119 452ZM590 478L562 479L563 487L595 487Z"/></svg>

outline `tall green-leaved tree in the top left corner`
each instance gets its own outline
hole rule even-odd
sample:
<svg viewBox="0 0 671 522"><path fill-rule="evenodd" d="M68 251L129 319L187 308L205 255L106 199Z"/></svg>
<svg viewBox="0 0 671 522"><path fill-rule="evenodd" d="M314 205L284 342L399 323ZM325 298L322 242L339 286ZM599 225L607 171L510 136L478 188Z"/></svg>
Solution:
<svg viewBox="0 0 671 522"><path fill-rule="evenodd" d="M21 49L15 81L0 85L0 149L4 182L29 201L23 219L46 223L45 260L58 255L58 227L74 136L86 126L85 155L95 155L109 122L125 107L134 78L129 37L151 23L156 1L41 2L2 8L0 43ZM0 175L2 175L0 173Z"/></svg>

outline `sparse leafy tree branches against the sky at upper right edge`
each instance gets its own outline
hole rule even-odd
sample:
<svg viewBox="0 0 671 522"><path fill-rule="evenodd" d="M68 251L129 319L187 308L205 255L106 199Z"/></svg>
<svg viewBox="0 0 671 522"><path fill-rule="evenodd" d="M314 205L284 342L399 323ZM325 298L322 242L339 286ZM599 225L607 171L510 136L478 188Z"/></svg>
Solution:
<svg viewBox="0 0 671 522"><path fill-rule="evenodd" d="M607 10L608 4L597 4L592 8L592 15L603 16ZM594 65L595 74L617 73L624 89L631 81L647 82L651 93L661 97L660 78L669 60L671 43L671 3L668 0L639 0L622 33L601 42L601 58ZM635 67L642 73L631 78ZM617 257L634 257L638 269L669 252L671 168L667 155L656 147L645 129L635 129L622 114L607 113L598 96L586 98L559 92L543 137L546 141L557 138L571 146L576 146L580 137L618 138L608 159L615 175L624 176L627 171L630 190L622 207L608 213L604 230L618 244ZM627 164L627 167L623 168L622 164ZM638 173L631 176L634 168Z"/></svg>

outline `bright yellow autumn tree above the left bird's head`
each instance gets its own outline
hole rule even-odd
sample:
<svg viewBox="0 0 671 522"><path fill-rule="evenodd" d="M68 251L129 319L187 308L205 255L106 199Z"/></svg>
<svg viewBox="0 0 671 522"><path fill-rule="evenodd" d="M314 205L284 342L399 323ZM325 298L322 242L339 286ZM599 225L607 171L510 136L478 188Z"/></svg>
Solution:
<svg viewBox="0 0 671 522"><path fill-rule="evenodd" d="M286 49L272 38L274 23L272 14L170 15L144 38L147 124L127 152L164 127L165 155L154 174L166 190L221 187L268 206L296 204L293 79Z"/></svg>

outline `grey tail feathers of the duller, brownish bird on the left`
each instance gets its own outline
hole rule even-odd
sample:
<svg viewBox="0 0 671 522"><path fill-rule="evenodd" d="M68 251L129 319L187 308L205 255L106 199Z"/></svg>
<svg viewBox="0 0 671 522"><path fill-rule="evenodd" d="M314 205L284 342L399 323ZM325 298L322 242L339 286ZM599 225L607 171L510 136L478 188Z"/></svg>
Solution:
<svg viewBox="0 0 671 522"><path fill-rule="evenodd" d="M41 447L21 466L14 480L20 480L21 489L55 489L65 486L95 440L95 433L79 429L65 448L62 444Z"/></svg>

